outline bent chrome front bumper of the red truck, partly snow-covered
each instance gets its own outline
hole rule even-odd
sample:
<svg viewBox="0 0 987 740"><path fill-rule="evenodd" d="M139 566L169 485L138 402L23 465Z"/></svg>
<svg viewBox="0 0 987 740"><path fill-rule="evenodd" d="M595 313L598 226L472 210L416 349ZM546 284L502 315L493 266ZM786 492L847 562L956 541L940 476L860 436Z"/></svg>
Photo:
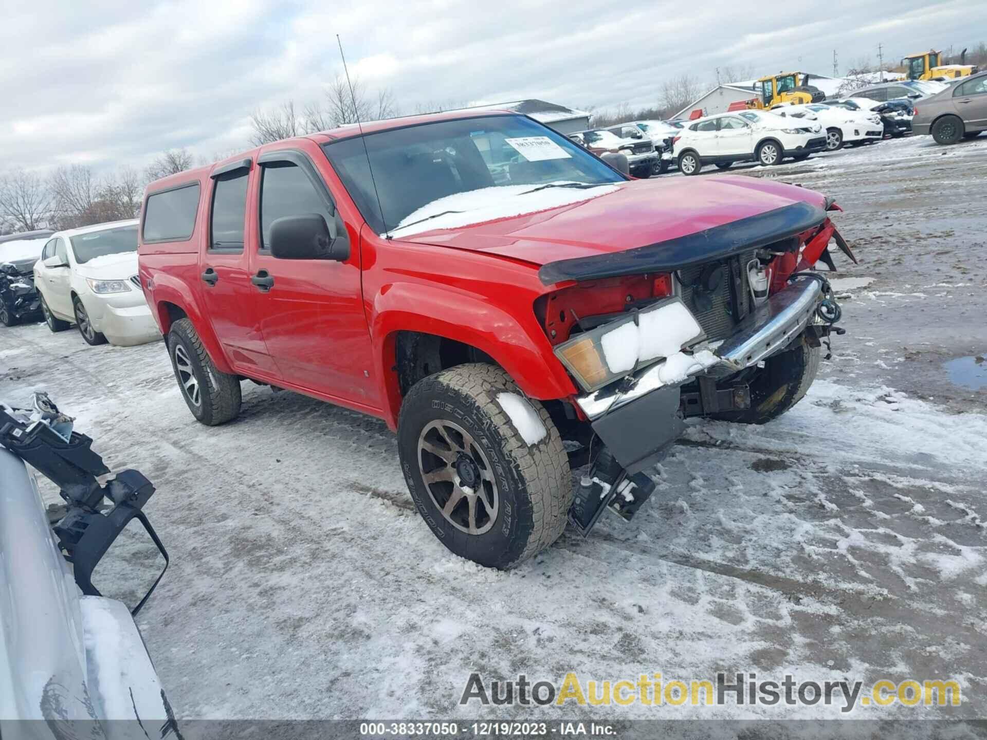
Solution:
<svg viewBox="0 0 987 740"><path fill-rule="evenodd" d="M700 370L680 383L688 383L697 375L725 377L755 365L765 357L781 351L805 329L812 320L821 300L822 286L818 280L802 278L775 293L741 321L736 331L724 339L715 354L719 362ZM645 395L665 386L659 374L664 362L657 362L638 371L627 380L612 383L593 393L579 396L576 403L590 418L632 404Z"/></svg>

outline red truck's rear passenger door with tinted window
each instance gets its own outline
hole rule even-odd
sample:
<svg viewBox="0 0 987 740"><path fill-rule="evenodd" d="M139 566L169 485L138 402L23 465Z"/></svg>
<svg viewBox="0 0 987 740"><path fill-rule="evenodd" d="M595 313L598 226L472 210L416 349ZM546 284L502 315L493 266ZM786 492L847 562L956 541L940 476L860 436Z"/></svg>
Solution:
<svg viewBox="0 0 987 740"><path fill-rule="evenodd" d="M257 291L250 281L253 232L247 228L252 160L217 168L209 193L208 234L199 257L202 304L234 367L257 380L276 380L258 319Z"/></svg>

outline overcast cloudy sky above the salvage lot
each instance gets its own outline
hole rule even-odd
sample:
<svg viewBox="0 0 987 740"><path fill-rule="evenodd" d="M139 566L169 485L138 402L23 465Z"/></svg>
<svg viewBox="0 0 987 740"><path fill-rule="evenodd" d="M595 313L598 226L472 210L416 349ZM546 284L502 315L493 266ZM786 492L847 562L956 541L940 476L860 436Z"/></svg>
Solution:
<svg viewBox="0 0 987 740"><path fill-rule="evenodd" d="M0 170L143 167L156 153L247 148L249 115L319 97L341 69L425 102L541 98L653 105L663 80L717 66L841 74L987 41L987 2L800 0L0 0Z"/></svg>

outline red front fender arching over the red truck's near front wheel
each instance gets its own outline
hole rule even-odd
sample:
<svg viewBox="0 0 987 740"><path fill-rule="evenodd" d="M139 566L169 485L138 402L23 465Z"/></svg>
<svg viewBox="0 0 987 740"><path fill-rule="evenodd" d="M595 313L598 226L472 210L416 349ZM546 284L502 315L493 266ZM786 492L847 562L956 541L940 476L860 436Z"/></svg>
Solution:
<svg viewBox="0 0 987 740"><path fill-rule="evenodd" d="M374 296L371 312L374 359L383 370L388 402L383 410L392 428L401 410L395 343L402 331L436 334L486 352L530 398L561 399L576 392L538 325L533 305L511 311L488 296L449 285L401 282Z"/></svg>

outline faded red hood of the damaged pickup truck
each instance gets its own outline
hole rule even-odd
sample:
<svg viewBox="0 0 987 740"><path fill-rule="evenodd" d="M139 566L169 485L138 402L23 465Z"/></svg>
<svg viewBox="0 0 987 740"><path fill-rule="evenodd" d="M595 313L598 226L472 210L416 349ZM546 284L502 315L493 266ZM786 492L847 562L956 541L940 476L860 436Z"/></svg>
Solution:
<svg viewBox="0 0 987 740"><path fill-rule="evenodd" d="M681 253L683 237L700 236L713 229L719 234L721 227L738 221L748 226L746 238L754 217L773 212L795 216L781 219L792 222L791 235L825 220L826 206L825 196L818 192L758 178L727 175L637 180L567 205L498 219L488 217L483 223L431 229L399 236L395 241L487 253L542 266L559 260L637 253L642 248ZM772 226L765 222L765 229L777 232L779 219L774 221ZM703 240L690 241L687 253L695 252L697 258L715 247L704 245Z"/></svg>

